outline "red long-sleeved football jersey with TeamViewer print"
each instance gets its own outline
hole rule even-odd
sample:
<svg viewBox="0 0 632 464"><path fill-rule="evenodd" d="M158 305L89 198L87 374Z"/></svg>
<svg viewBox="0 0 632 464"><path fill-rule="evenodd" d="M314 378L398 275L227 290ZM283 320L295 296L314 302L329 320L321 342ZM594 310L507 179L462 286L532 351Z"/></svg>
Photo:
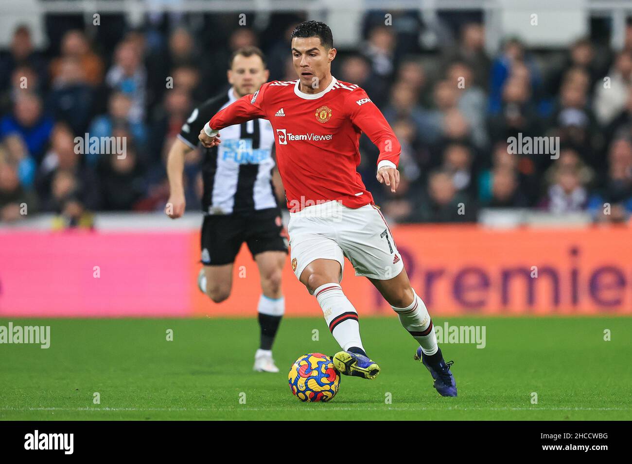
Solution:
<svg viewBox="0 0 632 464"><path fill-rule="evenodd" d="M349 208L373 203L357 171L360 134L379 148L381 161L398 165L401 148L382 112L357 85L333 78L325 90L303 93L296 81L265 83L209 121L223 129L255 118L270 121L290 211L329 200Z"/></svg>

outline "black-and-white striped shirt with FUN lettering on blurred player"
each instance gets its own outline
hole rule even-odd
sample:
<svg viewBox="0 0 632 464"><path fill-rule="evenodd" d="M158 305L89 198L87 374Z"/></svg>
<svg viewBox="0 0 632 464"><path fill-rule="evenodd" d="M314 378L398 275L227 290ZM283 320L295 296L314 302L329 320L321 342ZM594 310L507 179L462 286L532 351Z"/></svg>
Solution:
<svg viewBox="0 0 632 464"><path fill-rule="evenodd" d="M236 100L231 87L227 93L210 98L193 110L178 138L191 148L211 117ZM203 150L202 209L207 214L248 213L276 208L272 187L274 132L266 119L253 119L220 131L222 143Z"/></svg>

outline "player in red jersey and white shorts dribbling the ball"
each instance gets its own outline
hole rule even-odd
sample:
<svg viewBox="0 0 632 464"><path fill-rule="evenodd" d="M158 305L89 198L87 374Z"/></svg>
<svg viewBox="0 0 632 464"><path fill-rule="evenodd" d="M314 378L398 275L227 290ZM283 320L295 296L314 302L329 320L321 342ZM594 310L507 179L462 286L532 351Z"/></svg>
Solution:
<svg viewBox="0 0 632 464"><path fill-rule="evenodd" d="M315 295L342 348L333 357L346 375L374 379L380 367L364 351L358 313L339 283L344 256L398 314L419 346L420 359L443 396L456 396L456 382L437 345L430 314L412 289L386 220L356 167L365 133L379 148L377 179L395 192L400 146L380 110L358 85L331 75L336 49L330 28L305 21L293 31L296 81L273 81L217 112L200 131L206 147L221 143L220 129L255 118L270 121L276 158L290 211L291 264Z"/></svg>

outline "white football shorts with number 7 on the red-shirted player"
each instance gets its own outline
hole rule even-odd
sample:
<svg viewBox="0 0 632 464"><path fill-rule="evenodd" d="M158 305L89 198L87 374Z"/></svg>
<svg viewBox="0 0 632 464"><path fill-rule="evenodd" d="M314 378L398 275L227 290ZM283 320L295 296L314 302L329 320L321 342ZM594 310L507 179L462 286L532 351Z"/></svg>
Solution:
<svg viewBox="0 0 632 464"><path fill-rule="evenodd" d="M289 213L291 264L296 278L314 259L334 259L343 278L344 256L358 276L387 280L404 268L384 216L374 205L348 208L339 201Z"/></svg>

